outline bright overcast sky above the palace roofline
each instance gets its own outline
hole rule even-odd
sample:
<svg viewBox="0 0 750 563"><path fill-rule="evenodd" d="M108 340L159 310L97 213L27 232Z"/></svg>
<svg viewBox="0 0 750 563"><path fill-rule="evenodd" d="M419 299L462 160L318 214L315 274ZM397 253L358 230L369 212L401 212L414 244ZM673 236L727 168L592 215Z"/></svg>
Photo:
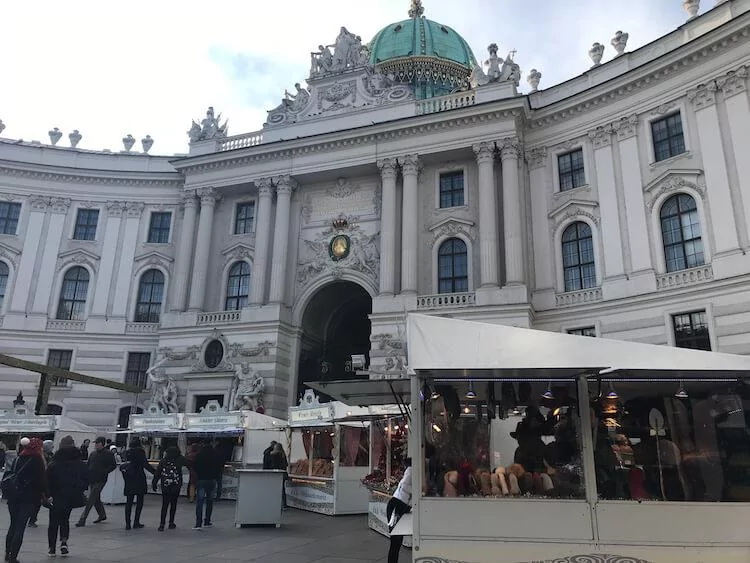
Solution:
<svg viewBox="0 0 750 563"><path fill-rule="evenodd" d="M307 77L310 52L343 25L369 41L407 17L409 0L0 0L3 137L49 142L79 129L81 148L122 150L150 134L152 154L187 152L190 120L213 105L229 133L260 129L284 89ZM701 12L714 0L703 0ZM487 45L518 51L540 88L587 70L588 49L617 30L628 50L686 20L682 0L424 0L425 16L448 25L485 60ZM1 155L0 155L1 157Z"/></svg>

